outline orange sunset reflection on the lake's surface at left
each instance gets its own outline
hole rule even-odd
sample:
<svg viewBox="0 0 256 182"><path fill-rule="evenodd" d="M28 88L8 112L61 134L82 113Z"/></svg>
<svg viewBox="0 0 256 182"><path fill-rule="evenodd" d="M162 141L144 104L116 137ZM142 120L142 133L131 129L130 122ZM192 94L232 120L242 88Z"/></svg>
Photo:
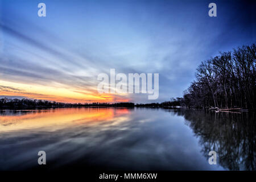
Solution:
<svg viewBox="0 0 256 182"><path fill-rule="evenodd" d="M5 114L5 112L2 112ZM114 108L66 108L51 110L27 110L19 115L0 114L0 132L46 129L58 130L78 125L99 125L101 122L126 121L128 109ZM17 113L16 113L17 114ZM113 123L112 123L113 125Z"/></svg>

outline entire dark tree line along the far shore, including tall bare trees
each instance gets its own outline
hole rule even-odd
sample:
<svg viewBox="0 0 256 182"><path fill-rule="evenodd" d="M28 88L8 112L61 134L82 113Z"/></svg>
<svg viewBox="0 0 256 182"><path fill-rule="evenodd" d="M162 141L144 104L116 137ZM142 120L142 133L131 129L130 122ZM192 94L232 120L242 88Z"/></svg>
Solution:
<svg viewBox="0 0 256 182"><path fill-rule="evenodd" d="M63 107L161 107L208 109L214 111L248 111L256 109L256 45L242 46L233 52L201 62L196 80L183 92L183 97L151 104L119 103L63 103L47 100L0 99L3 109L48 109Z"/></svg>

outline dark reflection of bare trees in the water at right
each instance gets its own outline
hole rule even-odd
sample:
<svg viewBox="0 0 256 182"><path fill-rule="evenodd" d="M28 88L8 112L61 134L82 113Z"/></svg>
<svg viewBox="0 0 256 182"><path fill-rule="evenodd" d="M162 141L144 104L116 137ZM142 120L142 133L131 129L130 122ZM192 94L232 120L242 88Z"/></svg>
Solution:
<svg viewBox="0 0 256 182"><path fill-rule="evenodd" d="M255 113L214 113L204 110L181 110L187 125L191 127L203 154L217 152L218 163L230 170L255 170Z"/></svg>

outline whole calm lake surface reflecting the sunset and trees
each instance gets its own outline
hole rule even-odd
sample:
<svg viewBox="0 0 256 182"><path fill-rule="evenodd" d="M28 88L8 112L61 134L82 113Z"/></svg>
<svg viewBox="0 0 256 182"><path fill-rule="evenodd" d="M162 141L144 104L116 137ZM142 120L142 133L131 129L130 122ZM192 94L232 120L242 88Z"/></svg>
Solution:
<svg viewBox="0 0 256 182"><path fill-rule="evenodd" d="M0 169L255 170L255 115L203 110L0 111ZM38 151L47 164L38 165ZM209 165L208 152L217 152Z"/></svg>

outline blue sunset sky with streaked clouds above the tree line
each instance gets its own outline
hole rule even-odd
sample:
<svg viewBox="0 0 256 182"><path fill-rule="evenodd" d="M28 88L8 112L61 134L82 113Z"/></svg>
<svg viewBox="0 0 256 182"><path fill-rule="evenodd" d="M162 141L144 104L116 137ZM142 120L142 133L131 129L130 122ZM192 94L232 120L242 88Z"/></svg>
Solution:
<svg viewBox="0 0 256 182"><path fill-rule="evenodd" d="M46 4L46 17L38 4ZM208 5L217 5L217 16ZM0 0L0 97L163 102L201 61L256 42L250 1ZM159 97L98 93L100 73L159 73Z"/></svg>

